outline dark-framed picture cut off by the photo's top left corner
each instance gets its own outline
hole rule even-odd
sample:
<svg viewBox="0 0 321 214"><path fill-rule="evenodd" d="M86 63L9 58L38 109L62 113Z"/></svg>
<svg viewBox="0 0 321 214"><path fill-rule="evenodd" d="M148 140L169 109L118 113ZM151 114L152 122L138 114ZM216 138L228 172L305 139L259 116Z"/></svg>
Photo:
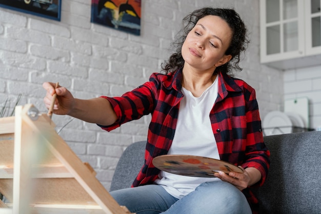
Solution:
<svg viewBox="0 0 321 214"><path fill-rule="evenodd" d="M60 21L62 0L0 0L0 7Z"/></svg>

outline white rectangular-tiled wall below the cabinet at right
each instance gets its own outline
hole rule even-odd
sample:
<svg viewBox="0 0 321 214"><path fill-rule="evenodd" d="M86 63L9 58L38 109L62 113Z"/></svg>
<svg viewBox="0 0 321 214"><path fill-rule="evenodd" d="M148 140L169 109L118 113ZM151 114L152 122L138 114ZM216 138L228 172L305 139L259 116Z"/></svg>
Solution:
<svg viewBox="0 0 321 214"><path fill-rule="evenodd" d="M321 66L284 71L284 98L308 98L310 128L321 127Z"/></svg>

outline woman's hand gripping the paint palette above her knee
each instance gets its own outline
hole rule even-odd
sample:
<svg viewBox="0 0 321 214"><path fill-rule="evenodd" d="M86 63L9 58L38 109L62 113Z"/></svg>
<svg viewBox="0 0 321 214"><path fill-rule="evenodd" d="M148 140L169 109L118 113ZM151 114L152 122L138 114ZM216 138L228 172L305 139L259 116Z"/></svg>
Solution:
<svg viewBox="0 0 321 214"><path fill-rule="evenodd" d="M229 182L237 187L239 190L243 190L261 179L261 173L253 168L246 168L239 166L244 172L229 172L228 174L224 173L223 171L218 171L214 173L216 178L219 178L222 181Z"/></svg>

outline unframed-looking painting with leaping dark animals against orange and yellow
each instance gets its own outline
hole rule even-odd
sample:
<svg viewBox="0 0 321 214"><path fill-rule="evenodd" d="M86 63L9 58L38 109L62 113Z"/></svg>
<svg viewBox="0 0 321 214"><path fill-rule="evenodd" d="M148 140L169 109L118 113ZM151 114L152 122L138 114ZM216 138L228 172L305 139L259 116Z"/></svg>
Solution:
<svg viewBox="0 0 321 214"><path fill-rule="evenodd" d="M91 22L139 35L141 0L92 0Z"/></svg>

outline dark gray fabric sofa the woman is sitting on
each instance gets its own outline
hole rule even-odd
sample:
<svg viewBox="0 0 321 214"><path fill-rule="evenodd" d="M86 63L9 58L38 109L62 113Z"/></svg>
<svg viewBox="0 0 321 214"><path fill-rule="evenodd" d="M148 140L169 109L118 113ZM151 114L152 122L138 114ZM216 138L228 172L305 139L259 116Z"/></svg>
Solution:
<svg viewBox="0 0 321 214"><path fill-rule="evenodd" d="M321 213L321 131L264 137L271 152L268 178L253 189L259 213ZM110 191L130 187L144 162L145 142L130 145L119 160Z"/></svg>

